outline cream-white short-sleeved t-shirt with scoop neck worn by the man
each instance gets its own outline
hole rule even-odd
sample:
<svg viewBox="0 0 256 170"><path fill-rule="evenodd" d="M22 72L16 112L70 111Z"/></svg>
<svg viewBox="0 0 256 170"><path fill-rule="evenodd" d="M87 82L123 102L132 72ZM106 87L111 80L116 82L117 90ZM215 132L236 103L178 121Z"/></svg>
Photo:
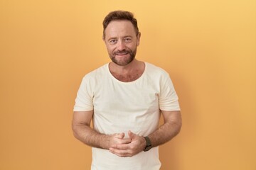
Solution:
<svg viewBox="0 0 256 170"><path fill-rule="evenodd" d="M110 73L109 64L95 69L82 79L74 111L92 111L93 128L103 134L128 130L146 136L159 125L162 111L179 111L178 96L169 74L145 63L139 79L122 82ZM159 148L134 157L118 157L107 149L92 148L92 170L159 170Z"/></svg>

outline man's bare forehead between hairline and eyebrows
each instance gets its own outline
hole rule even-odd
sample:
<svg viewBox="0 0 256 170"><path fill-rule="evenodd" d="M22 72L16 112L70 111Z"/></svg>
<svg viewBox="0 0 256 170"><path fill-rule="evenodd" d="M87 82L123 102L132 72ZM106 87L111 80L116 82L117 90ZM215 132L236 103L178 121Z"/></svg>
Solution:
<svg viewBox="0 0 256 170"><path fill-rule="evenodd" d="M111 21L105 29L107 37L112 36L136 36L134 26L130 21Z"/></svg>

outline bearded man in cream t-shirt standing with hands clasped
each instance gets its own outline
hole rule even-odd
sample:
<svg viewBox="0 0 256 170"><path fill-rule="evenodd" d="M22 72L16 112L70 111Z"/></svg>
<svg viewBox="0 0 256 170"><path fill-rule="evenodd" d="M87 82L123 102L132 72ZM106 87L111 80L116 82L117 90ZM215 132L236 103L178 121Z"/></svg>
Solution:
<svg viewBox="0 0 256 170"><path fill-rule="evenodd" d="M135 59L141 33L132 13L112 11L103 28L112 62L82 79L74 135L92 147L92 170L159 170L158 146L181 128L174 86L163 69Z"/></svg>

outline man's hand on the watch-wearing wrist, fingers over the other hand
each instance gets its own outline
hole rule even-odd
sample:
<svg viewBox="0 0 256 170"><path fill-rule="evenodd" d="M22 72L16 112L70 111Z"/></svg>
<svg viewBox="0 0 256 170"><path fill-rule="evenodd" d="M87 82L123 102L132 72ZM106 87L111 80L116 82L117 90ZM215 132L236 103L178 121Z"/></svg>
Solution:
<svg viewBox="0 0 256 170"><path fill-rule="evenodd" d="M110 152L119 157L132 157L139 152L142 152L146 147L144 137L128 132L130 143L115 144L110 147Z"/></svg>

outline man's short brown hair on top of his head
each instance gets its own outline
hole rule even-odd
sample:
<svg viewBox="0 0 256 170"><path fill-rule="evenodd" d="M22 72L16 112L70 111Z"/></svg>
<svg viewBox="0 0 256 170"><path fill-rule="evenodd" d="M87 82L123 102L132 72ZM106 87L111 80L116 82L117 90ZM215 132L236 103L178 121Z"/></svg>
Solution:
<svg viewBox="0 0 256 170"><path fill-rule="evenodd" d="M138 28L138 24L137 24L137 19L134 18L134 14L129 12L129 11L112 11L109 14L107 14L107 16L105 17L104 21L103 21L103 38L105 38L105 30L107 28L107 26L109 25L109 23L111 21L120 21L120 20L127 20L130 21L132 23L132 25L134 26L134 30L136 35L139 34L139 28Z"/></svg>

